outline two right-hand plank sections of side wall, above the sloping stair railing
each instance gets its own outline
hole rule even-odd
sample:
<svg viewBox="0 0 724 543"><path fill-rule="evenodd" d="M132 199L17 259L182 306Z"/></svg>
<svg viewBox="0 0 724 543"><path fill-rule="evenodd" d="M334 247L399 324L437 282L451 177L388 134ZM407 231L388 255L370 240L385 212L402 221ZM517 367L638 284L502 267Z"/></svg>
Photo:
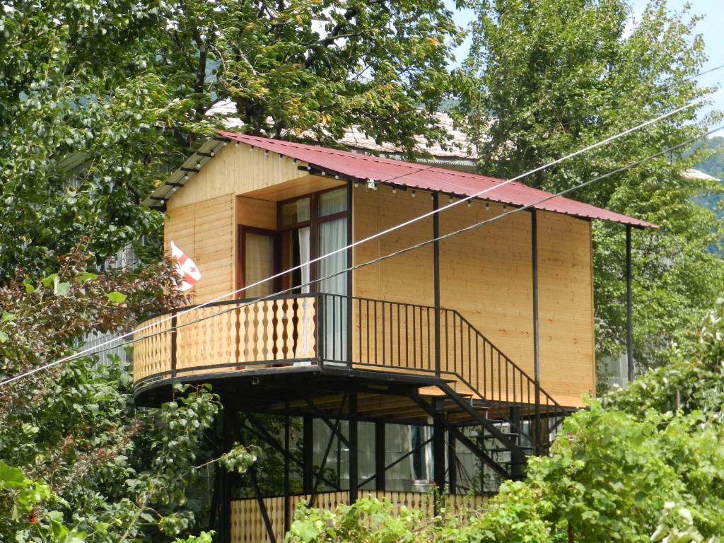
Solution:
<svg viewBox="0 0 724 543"><path fill-rule="evenodd" d="M440 231L503 213L475 202L443 211ZM595 388L590 224L538 211L541 385L561 405ZM440 243L441 305L533 375L531 215L525 211Z"/></svg>

